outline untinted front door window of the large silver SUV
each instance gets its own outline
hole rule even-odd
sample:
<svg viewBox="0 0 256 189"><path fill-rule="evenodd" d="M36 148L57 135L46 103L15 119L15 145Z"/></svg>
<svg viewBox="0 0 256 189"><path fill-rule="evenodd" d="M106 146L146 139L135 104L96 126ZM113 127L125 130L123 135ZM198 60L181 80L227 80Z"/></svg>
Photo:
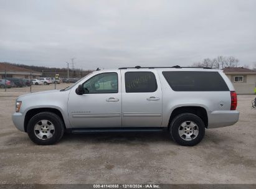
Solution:
<svg viewBox="0 0 256 189"><path fill-rule="evenodd" d="M83 83L83 91L87 94L118 93L118 75L115 72L95 75Z"/></svg>

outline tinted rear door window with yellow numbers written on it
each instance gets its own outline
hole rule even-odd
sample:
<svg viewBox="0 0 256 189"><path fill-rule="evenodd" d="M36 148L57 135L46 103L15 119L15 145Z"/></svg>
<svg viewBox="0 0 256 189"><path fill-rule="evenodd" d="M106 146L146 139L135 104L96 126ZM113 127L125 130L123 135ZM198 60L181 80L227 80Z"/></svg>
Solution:
<svg viewBox="0 0 256 189"><path fill-rule="evenodd" d="M126 93L150 93L156 91L156 77L150 71L128 71L125 73Z"/></svg>

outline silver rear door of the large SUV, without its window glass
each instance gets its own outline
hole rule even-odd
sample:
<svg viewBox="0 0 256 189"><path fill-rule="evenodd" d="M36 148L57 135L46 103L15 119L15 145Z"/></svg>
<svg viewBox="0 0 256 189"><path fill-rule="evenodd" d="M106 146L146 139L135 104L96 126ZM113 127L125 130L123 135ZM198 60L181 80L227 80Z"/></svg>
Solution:
<svg viewBox="0 0 256 189"><path fill-rule="evenodd" d="M156 77L156 91L149 93L126 93L125 73L140 71L153 73ZM161 127L162 89L156 70L121 70L122 88L122 126L123 127ZM140 82L140 81L135 81ZM127 83L128 84L128 83Z"/></svg>

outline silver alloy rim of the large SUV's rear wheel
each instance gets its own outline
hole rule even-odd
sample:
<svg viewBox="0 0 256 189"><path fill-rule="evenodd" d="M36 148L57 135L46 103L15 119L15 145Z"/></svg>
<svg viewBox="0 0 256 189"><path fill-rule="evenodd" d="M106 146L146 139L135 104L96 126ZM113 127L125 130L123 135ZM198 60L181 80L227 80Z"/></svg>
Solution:
<svg viewBox="0 0 256 189"><path fill-rule="evenodd" d="M196 139L199 133L199 128L192 121L185 121L179 126L179 136L185 141Z"/></svg>

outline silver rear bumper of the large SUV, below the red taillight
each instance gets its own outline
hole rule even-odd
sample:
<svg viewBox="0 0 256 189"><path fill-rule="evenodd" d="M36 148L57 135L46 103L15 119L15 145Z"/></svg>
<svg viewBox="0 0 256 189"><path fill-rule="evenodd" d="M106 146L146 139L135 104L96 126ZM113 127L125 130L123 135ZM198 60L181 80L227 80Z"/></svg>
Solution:
<svg viewBox="0 0 256 189"><path fill-rule="evenodd" d="M208 129L232 126L239 120L239 111L212 111L208 114Z"/></svg>

